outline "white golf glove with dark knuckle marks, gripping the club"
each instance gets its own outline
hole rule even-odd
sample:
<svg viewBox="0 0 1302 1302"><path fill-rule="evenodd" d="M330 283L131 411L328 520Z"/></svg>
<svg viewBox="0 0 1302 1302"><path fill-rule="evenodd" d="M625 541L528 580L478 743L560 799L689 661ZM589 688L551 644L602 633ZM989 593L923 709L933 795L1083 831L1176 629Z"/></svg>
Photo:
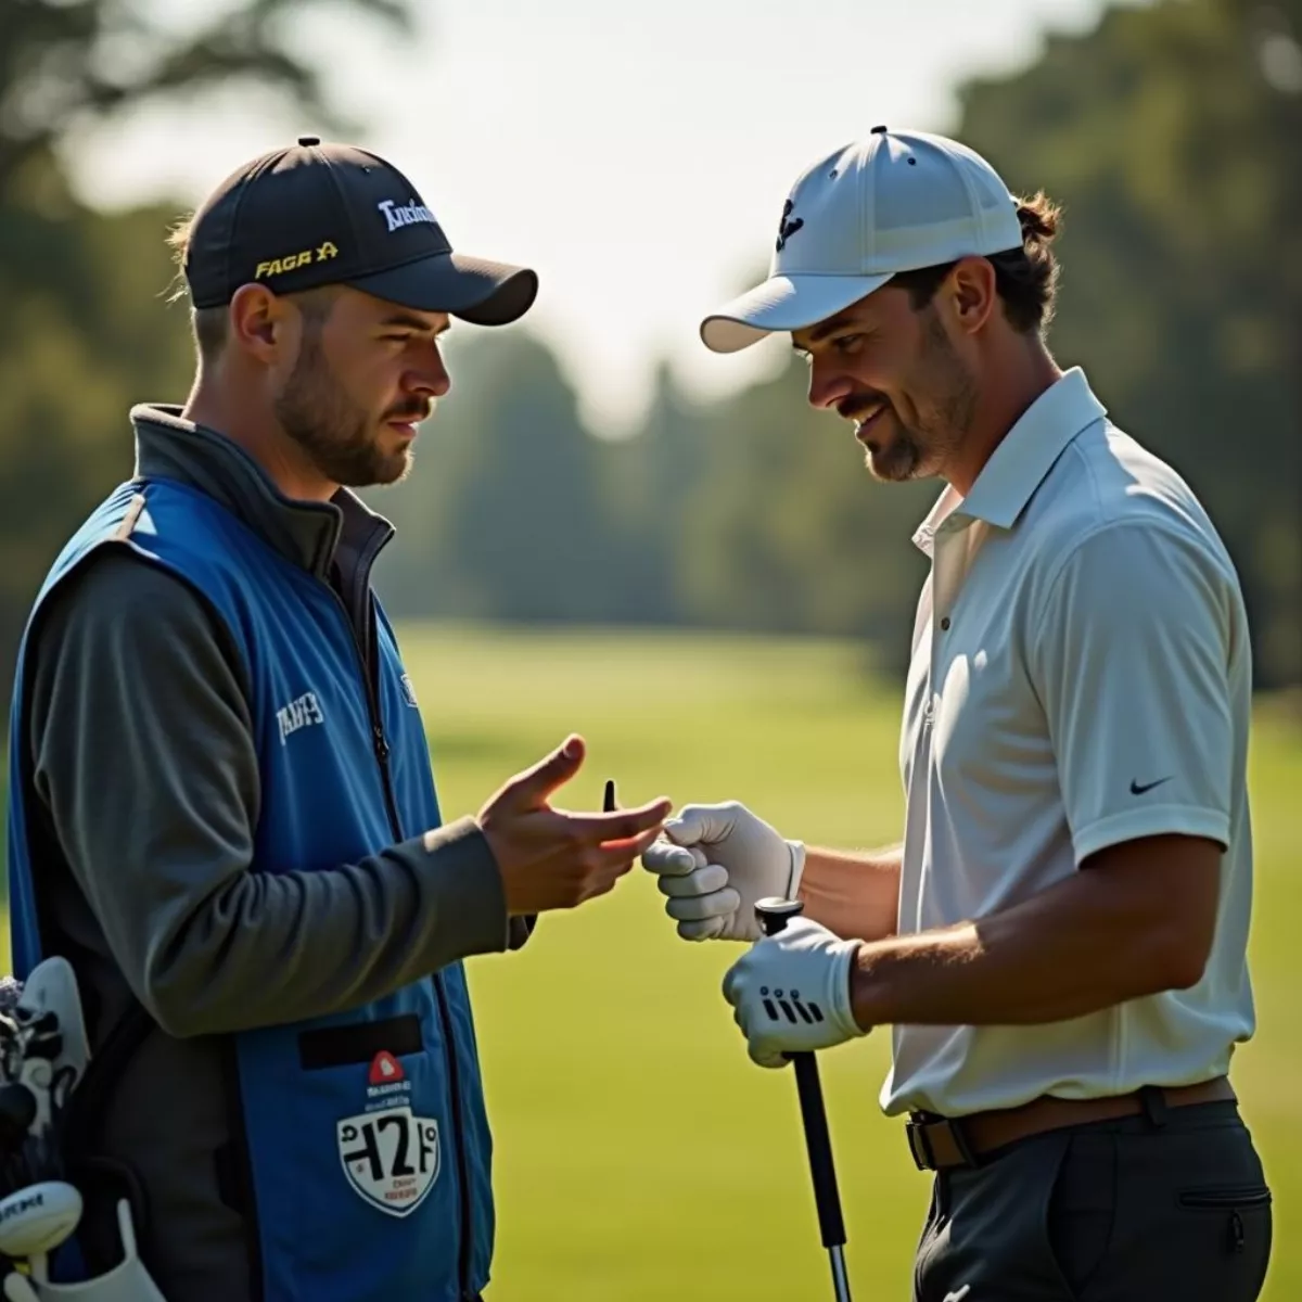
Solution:
<svg viewBox="0 0 1302 1302"><path fill-rule="evenodd" d="M850 1006L858 950L858 940L841 940L810 918L793 918L728 969L724 999L755 1062L785 1066L788 1053L868 1034Z"/></svg>

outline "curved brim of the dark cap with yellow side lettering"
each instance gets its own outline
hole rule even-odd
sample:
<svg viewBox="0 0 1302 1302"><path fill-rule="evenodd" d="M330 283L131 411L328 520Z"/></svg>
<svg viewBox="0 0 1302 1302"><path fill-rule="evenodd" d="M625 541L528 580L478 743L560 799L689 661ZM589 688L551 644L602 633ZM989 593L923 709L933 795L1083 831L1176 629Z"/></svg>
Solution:
<svg viewBox="0 0 1302 1302"><path fill-rule="evenodd" d="M421 258L348 284L404 307L447 312L474 326L509 326L538 297L538 273L527 267L458 253Z"/></svg>

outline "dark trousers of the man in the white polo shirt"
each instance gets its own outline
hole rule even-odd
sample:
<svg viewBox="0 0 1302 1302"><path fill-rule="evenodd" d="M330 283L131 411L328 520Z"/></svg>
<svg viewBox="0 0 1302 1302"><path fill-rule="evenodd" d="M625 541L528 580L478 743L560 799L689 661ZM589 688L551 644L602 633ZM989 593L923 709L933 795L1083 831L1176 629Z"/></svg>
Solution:
<svg viewBox="0 0 1302 1302"><path fill-rule="evenodd" d="M914 1302L1253 1302L1271 1191L1238 1105L1019 1139L939 1172Z"/></svg>

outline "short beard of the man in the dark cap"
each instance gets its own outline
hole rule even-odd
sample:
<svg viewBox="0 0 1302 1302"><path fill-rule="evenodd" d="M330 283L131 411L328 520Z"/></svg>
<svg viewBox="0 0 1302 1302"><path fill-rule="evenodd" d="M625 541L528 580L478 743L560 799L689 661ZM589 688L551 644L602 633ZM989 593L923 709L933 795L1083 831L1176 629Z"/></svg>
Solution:
<svg viewBox="0 0 1302 1302"><path fill-rule="evenodd" d="M392 484L411 469L410 447L404 444L385 452L379 445L366 411L335 380L319 337L310 332L303 336L294 370L276 398L275 413L285 434L331 483L350 488ZM426 415L428 406L413 400L404 410L388 413L385 419L422 421Z"/></svg>

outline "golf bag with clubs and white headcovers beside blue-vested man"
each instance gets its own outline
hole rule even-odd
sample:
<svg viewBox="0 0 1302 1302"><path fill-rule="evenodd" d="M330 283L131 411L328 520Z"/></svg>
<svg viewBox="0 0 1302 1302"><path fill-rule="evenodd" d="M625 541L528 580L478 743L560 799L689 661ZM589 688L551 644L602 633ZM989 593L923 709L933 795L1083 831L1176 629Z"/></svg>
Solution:
<svg viewBox="0 0 1302 1302"><path fill-rule="evenodd" d="M8 1302L165 1302L139 1259L142 1202L129 1184L115 1199L116 1264L81 1277L82 1186L118 1191L112 1173L78 1152L92 1090L74 1091L94 1075L90 1068L77 978L65 958L38 963L25 983L0 979L0 1293ZM57 1273L76 1282L51 1279L55 1254L73 1263Z"/></svg>

